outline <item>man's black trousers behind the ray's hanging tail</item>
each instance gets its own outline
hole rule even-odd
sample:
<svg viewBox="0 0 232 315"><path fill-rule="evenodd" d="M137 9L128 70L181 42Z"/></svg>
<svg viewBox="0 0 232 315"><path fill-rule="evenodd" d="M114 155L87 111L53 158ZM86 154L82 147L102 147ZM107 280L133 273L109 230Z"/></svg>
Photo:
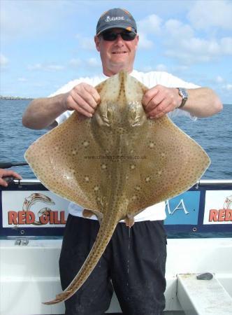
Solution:
<svg viewBox="0 0 232 315"><path fill-rule="evenodd" d="M98 221L68 216L59 260L63 290L87 258L98 230ZM114 288L123 314L160 315L165 307L165 265L163 221L137 222L132 228L118 223L92 274L65 301L65 314L103 315Z"/></svg>

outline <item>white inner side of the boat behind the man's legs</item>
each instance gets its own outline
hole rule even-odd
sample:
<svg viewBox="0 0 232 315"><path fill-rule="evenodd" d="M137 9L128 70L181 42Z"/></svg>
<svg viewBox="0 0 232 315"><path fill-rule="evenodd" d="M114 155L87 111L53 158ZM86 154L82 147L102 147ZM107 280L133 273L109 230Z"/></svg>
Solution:
<svg viewBox="0 0 232 315"><path fill-rule="evenodd" d="M30 239L28 244L22 241L20 245L15 239L0 240L1 315L64 314L64 303L41 304L61 291L60 248L61 239ZM168 239L165 314L184 314L180 313L183 308L177 296L177 274L212 273L232 302L231 253L232 238ZM120 312L114 295L108 313Z"/></svg>

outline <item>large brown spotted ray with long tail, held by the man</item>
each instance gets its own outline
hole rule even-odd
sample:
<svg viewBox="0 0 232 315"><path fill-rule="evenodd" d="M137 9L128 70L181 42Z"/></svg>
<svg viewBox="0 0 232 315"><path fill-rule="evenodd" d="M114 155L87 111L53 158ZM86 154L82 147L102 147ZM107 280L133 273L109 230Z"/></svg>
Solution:
<svg viewBox="0 0 232 315"><path fill-rule="evenodd" d="M96 241L80 272L63 293L71 297L92 272L117 223L190 188L209 165L201 146L167 116L147 119L141 99L147 88L124 71L96 87L92 118L74 112L32 144L25 158L49 190L99 218Z"/></svg>

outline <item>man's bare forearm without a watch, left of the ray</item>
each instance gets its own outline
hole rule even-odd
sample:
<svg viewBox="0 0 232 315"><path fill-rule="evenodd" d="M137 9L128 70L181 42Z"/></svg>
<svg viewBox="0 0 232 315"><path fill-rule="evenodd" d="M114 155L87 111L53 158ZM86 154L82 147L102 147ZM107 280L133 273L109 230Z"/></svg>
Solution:
<svg viewBox="0 0 232 315"><path fill-rule="evenodd" d="M22 117L24 127L40 130L52 125L66 111L63 98L63 94L59 94L55 97L34 99Z"/></svg>

